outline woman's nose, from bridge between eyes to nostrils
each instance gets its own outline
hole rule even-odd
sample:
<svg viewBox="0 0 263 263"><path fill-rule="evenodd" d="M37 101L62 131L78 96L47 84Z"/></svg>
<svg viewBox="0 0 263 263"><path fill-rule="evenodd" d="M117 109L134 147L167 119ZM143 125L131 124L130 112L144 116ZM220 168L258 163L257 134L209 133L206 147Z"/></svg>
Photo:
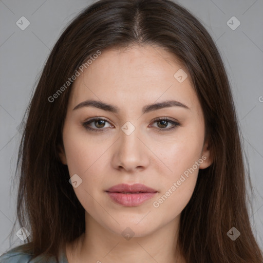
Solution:
<svg viewBox="0 0 263 263"><path fill-rule="evenodd" d="M139 128L135 128L131 134L120 129L120 138L114 147L112 165L118 170L127 172L143 171L149 165L151 153L146 144Z"/></svg>

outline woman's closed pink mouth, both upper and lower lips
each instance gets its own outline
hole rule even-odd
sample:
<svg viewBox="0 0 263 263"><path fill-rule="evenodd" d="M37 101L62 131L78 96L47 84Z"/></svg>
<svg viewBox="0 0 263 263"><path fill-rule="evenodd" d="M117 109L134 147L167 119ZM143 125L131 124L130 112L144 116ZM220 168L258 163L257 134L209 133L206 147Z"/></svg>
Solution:
<svg viewBox="0 0 263 263"><path fill-rule="evenodd" d="M105 191L111 200L123 206L138 206L153 198L158 191L144 184L118 184ZM138 193L140 192L140 193Z"/></svg>

